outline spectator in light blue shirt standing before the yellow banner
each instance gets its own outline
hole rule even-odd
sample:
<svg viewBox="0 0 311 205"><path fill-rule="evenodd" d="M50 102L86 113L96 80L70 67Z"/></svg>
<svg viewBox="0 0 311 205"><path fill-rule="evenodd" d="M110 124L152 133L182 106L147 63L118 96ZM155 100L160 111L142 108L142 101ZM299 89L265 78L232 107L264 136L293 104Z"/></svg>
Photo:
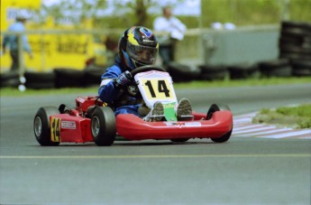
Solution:
<svg viewBox="0 0 311 205"><path fill-rule="evenodd" d="M8 28L8 32L16 32L16 33L23 33L25 32L25 24L26 18L18 16L16 17L15 23L11 24ZM23 50L27 51L29 56L32 58L32 50L28 43L27 36L25 34L22 35L23 41ZM2 43L3 53L6 51L6 47L10 50L10 55L12 58L12 65L11 70L16 71L20 67L19 61L19 51L18 51L18 35L16 34L6 34L4 36L4 40Z"/></svg>

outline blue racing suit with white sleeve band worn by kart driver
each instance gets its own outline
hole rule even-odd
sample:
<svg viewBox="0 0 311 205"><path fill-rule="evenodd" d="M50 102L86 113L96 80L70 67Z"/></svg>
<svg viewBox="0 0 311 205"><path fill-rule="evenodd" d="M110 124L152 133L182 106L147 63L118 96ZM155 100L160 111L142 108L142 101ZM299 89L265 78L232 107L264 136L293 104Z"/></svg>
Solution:
<svg viewBox="0 0 311 205"><path fill-rule="evenodd" d="M102 82L98 89L99 98L114 108L114 115L118 114L138 114L138 108L142 106L140 98L134 98L128 95L115 82L115 79L126 69L122 66L120 59L117 57L112 67L108 68L102 76Z"/></svg>

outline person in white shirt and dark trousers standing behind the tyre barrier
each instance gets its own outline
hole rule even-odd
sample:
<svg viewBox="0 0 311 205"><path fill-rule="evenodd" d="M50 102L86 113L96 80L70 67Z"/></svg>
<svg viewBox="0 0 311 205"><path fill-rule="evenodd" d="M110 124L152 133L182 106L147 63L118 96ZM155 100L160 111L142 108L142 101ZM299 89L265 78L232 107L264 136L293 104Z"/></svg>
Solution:
<svg viewBox="0 0 311 205"><path fill-rule="evenodd" d="M176 41L184 39L187 27L172 15L170 6L165 6L162 8L162 15L153 21L153 30L154 32L164 33L158 35L159 54L163 66L167 66L170 61L174 61Z"/></svg>

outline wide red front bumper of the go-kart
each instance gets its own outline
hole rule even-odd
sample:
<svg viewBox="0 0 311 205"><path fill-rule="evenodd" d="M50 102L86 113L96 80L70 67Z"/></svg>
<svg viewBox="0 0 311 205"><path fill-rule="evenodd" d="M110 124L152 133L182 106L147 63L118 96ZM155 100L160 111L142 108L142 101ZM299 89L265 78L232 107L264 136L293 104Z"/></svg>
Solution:
<svg viewBox="0 0 311 205"><path fill-rule="evenodd" d="M117 132L130 140L218 138L233 128L233 116L228 110L218 111L209 120L206 114L192 113L194 120L178 122L145 122L133 115L116 116Z"/></svg>

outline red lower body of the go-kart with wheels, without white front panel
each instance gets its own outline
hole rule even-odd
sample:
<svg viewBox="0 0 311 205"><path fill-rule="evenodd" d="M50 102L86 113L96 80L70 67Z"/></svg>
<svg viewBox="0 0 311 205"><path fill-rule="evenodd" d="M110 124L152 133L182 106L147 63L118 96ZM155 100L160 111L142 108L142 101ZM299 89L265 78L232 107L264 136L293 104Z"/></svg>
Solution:
<svg viewBox="0 0 311 205"><path fill-rule="evenodd" d="M34 133L41 145L87 142L111 145L115 135L127 140L169 139L173 142L185 142L189 138L211 138L215 142L225 142L233 129L233 115L230 110L215 110L209 119L206 118L208 114L193 112L193 118L189 121L146 122L132 114L120 114L115 117L113 110L103 107L103 102L96 97L76 98L75 108L60 110L60 107L54 107L54 114L50 109L41 107L40 110L45 110L43 115L39 110L35 116ZM93 111L90 111L91 108ZM107 112L109 115L101 117L94 109L97 113L103 109L104 114ZM98 123L96 119L99 119ZM48 121L46 125L45 121ZM100 141L98 132L104 132L102 138L110 135L110 140Z"/></svg>

